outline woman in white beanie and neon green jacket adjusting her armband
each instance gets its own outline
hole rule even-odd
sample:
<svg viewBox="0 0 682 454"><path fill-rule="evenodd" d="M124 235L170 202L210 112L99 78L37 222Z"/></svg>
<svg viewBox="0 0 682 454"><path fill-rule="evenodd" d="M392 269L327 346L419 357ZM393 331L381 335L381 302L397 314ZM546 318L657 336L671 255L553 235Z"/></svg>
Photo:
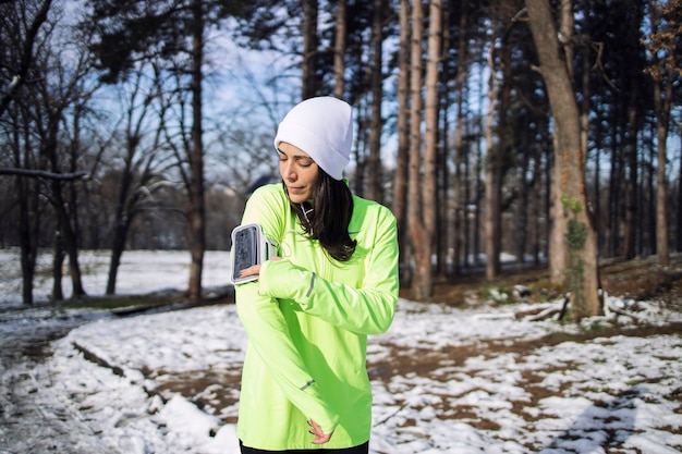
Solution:
<svg viewBox="0 0 682 454"><path fill-rule="evenodd" d="M244 270L258 280L235 287L248 334L242 453L368 452L367 335L393 319L398 241L391 212L342 177L352 136L346 102L301 102L275 138L282 184L246 204L242 223L259 224L279 257Z"/></svg>

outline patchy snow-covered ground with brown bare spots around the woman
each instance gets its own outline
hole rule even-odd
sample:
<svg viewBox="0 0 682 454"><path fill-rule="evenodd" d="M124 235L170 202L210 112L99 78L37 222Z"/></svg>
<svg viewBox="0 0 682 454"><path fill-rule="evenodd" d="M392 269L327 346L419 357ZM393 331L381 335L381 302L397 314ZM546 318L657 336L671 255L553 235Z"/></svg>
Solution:
<svg viewBox="0 0 682 454"><path fill-rule="evenodd" d="M103 294L107 263L103 254L84 256L89 294ZM184 289L187 267L187 253L125 253L118 292ZM0 251L0 309L15 307L12 251ZM209 253L205 286L228 277L227 253ZM36 295L47 295L49 279L37 283ZM682 452L682 336L670 329L682 315L657 302L609 303L637 319L574 326L516 318L528 309L522 303L458 309L401 299L389 332L368 346L370 452ZM239 452L245 334L232 305L125 318L17 314L0 311L2 349L27 332L68 334L47 359L5 352L0 454ZM607 329L616 324L619 332ZM653 328L628 335L635 324Z"/></svg>

